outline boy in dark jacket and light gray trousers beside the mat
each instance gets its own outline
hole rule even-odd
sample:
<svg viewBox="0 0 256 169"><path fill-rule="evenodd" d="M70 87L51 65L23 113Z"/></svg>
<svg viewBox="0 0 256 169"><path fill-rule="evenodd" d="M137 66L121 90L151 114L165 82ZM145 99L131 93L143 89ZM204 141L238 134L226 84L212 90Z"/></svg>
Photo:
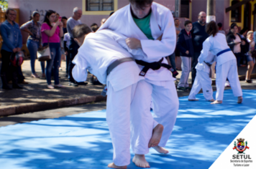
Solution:
<svg viewBox="0 0 256 169"><path fill-rule="evenodd" d="M191 36L192 22L185 21L185 29L182 29L178 34L177 48L180 51L181 58L181 77L178 83L178 90L186 91L188 87L188 76L191 72L191 58L193 57L193 42Z"/></svg>

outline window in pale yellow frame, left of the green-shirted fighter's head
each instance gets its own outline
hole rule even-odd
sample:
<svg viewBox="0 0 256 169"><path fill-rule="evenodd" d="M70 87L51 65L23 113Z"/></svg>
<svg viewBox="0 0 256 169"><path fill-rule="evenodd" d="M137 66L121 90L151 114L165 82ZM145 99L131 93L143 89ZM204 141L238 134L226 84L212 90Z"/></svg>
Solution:
<svg viewBox="0 0 256 169"><path fill-rule="evenodd" d="M114 0L86 0L86 11L114 11Z"/></svg>

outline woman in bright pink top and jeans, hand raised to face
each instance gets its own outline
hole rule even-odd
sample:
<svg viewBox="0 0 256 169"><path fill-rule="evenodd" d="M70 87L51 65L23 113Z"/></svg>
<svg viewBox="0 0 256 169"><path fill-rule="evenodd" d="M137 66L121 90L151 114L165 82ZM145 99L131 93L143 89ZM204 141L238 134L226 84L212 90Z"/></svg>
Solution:
<svg viewBox="0 0 256 169"><path fill-rule="evenodd" d="M60 37L63 37L63 24L60 20L55 21L55 11L48 10L45 14L45 20L41 27L42 45L49 43L51 59L47 60L46 79L47 88L63 87L59 82L59 66L60 66ZM51 73L53 67L53 76L55 80L54 87L51 82Z"/></svg>

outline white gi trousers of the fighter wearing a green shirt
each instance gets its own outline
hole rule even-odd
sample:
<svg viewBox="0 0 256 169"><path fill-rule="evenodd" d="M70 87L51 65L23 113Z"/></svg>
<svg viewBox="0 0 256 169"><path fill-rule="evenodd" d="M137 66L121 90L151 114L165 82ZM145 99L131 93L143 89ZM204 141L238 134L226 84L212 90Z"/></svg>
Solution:
<svg viewBox="0 0 256 169"><path fill-rule="evenodd" d="M131 107L131 144L135 154L144 155L149 152L148 143L152 137L152 129L159 123L163 125L163 135L159 146L165 147L178 114L178 95L173 81L163 81L158 86L145 81L140 93L143 97L134 97L134 106ZM151 98L153 102L154 120L150 120ZM143 102L141 101L143 100ZM140 119L144 119L143 121ZM156 121L156 122L155 122ZM141 123L142 122L142 123Z"/></svg>

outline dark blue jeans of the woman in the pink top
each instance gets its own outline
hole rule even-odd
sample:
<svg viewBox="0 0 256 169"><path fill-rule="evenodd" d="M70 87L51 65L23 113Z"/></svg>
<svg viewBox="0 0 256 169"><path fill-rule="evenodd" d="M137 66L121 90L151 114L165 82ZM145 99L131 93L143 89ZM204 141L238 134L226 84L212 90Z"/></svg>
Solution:
<svg viewBox="0 0 256 169"><path fill-rule="evenodd" d="M47 43L43 44L46 46ZM60 43L49 43L50 47L50 56L52 59L47 60L45 75L47 79L47 84L52 84L51 75L52 75L52 67L53 67L53 77L54 84L59 84L59 67L60 67Z"/></svg>

